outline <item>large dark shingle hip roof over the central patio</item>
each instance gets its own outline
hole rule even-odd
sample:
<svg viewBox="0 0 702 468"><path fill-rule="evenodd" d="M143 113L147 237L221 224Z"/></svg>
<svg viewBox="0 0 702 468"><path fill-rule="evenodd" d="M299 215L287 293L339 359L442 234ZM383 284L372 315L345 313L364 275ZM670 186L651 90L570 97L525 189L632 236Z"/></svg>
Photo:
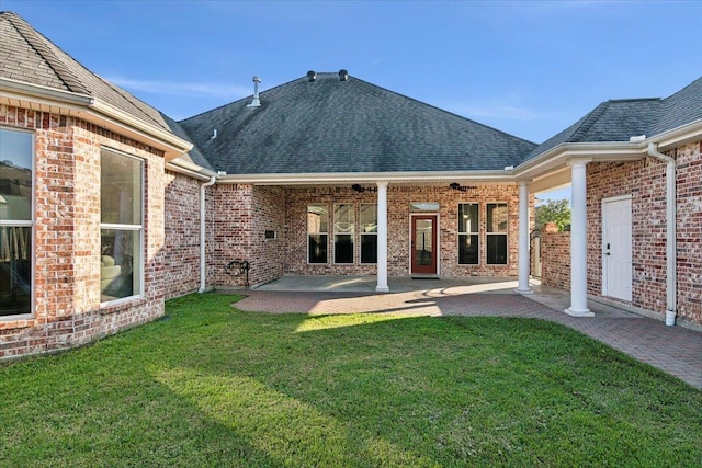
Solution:
<svg viewBox="0 0 702 468"><path fill-rule="evenodd" d="M230 174L501 170L534 147L337 73L291 81L260 100L260 107L248 107L248 98L180 124Z"/></svg>

